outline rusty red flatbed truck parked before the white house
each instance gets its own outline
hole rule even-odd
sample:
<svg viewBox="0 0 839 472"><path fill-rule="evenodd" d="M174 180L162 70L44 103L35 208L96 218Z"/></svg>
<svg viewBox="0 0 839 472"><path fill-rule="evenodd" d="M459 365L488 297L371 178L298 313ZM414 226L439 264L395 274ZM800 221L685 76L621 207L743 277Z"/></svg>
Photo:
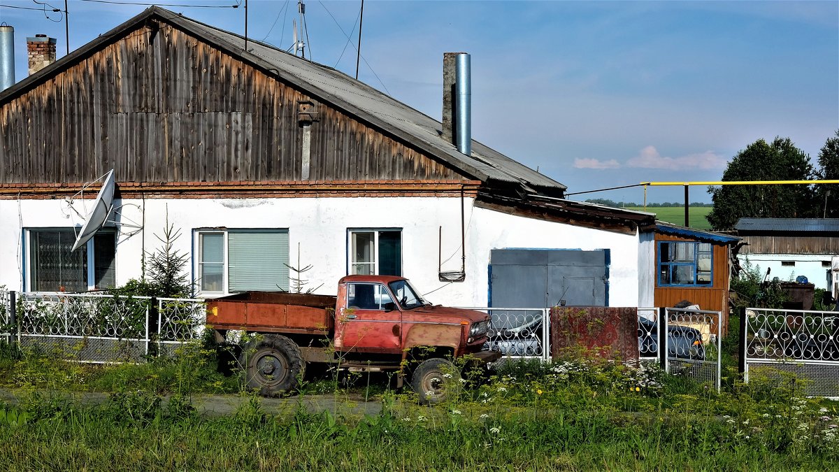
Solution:
<svg viewBox="0 0 839 472"><path fill-rule="evenodd" d="M446 398L446 379L459 375L450 359L487 363L501 353L482 351L486 313L426 302L403 277L348 275L337 296L248 291L207 302L207 324L256 334L240 359L248 385L265 396L289 391L307 363L355 371L410 375L425 404Z"/></svg>

